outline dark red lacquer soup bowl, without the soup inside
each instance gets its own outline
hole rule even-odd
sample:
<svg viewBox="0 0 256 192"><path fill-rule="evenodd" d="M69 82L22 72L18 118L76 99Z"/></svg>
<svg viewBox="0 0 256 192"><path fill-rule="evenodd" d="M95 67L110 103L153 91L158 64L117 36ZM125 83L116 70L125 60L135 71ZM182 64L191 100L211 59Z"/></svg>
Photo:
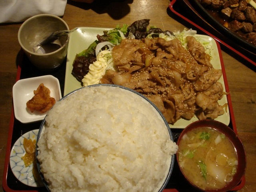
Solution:
<svg viewBox="0 0 256 192"><path fill-rule="evenodd" d="M181 168L180 162L179 162L179 156L181 154L180 154L180 151L178 150L178 152L176 154L176 159L177 159L180 171L181 171L182 175L184 176L184 178L187 180L187 182L191 186L196 188L196 190L198 190L198 191L203 191L203 192L226 192L226 191L232 190L233 188L235 188L236 186L238 186L240 184L240 182L242 181L242 178L245 174L245 170L246 170L246 152L244 150L244 146L243 146L240 138L238 137L238 135L230 127L226 126L225 124L223 124L221 122L215 121L215 120L198 120L198 121L193 122L192 124L188 125L184 130L182 130L182 132L180 134L180 137L178 138L178 141L177 141L178 146L180 145L180 141L182 140L182 137L185 134L187 134L191 130L198 129L198 128L201 128L201 127L208 127L208 128L211 128L211 129L218 130L219 132L225 134L226 138L228 138L231 141L231 143L233 144L233 146L236 150L237 157L238 157L238 167L237 167L236 173L234 174L232 181L226 183L226 186L224 188L220 188L220 189L217 189L217 190L203 190L203 189L199 188L198 186L194 185L192 183L192 181L190 181L188 179L188 177L182 171L182 168Z"/></svg>

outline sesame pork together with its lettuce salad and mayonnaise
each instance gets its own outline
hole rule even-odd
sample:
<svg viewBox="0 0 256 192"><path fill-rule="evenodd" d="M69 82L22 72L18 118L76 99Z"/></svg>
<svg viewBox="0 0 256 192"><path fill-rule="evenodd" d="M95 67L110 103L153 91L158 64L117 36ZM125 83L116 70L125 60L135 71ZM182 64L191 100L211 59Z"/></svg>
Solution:
<svg viewBox="0 0 256 192"><path fill-rule="evenodd" d="M215 119L224 114L224 106L218 104L224 94L218 82L222 70L213 68L210 55L194 38L193 30L185 35L154 26L147 29L149 21L138 20L98 35L98 40L76 55L72 74L84 86L95 84L97 79L97 83L117 84L140 92L170 124L195 115L199 119ZM99 59L108 60L106 63L98 61L100 50L110 54ZM91 57L97 57L97 62L89 61Z"/></svg>

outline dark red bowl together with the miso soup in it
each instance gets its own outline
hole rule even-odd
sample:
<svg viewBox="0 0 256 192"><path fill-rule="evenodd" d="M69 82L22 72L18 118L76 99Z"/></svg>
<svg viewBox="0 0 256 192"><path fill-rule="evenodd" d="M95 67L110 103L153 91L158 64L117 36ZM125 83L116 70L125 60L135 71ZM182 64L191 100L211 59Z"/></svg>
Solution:
<svg viewBox="0 0 256 192"><path fill-rule="evenodd" d="M242 143L230 128L219 122L194 124L198 126L188 126L178 139L177 159L182 173L200 190L230 190L245 170Z"/></svg>

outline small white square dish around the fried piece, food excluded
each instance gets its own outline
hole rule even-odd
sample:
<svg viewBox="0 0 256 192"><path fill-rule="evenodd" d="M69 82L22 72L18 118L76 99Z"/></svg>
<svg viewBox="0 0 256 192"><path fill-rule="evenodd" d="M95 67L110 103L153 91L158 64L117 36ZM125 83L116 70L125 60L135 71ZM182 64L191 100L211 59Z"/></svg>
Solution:
<svg viewBox="0 0 256 192"><path fill-rule="evenodd" d="M56 102L62 98L60 91L60 82L52 75L45 75L33 78L26 78L18 80L13 88L13 105L14 115L17 120L22 123L31 123L43 120L47 112L40 113L34 111L33 113L27 109L26 103L34 96L34 90L43 83L44 86L50 89L50 96L55 98Z"/></svg>

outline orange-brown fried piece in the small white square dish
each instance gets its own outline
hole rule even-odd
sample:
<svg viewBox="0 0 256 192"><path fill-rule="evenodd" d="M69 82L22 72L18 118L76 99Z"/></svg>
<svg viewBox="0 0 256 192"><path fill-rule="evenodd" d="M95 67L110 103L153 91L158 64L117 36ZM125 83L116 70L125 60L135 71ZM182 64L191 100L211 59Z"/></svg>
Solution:
<svg viewBox="0 0 256 192"><path fill-rule="evenodd" d="M30 112L38 111L44 113L55 104L55 99L50 97L50 90L41 83L37 90L34 90L34 96L26 105Z"/></svg>

